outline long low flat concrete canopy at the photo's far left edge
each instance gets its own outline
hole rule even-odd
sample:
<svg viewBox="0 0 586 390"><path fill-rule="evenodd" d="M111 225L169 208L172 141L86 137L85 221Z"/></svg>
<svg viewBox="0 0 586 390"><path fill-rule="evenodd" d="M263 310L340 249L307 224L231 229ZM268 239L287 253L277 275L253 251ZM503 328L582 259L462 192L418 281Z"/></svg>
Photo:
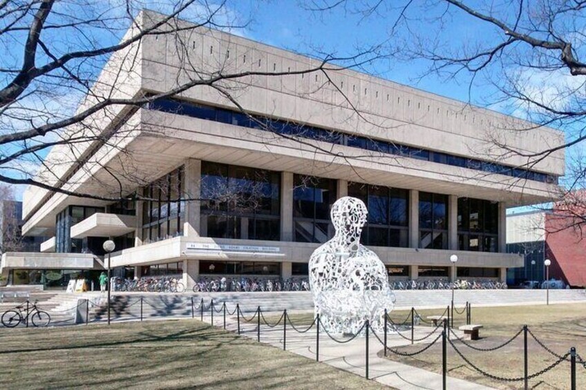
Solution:
<svg viewBox="0 0 586 390"><path fill-rule="evenodd" d="M6 252L0 273L8 269L93 269L95 258L91 253Z"/></svg>

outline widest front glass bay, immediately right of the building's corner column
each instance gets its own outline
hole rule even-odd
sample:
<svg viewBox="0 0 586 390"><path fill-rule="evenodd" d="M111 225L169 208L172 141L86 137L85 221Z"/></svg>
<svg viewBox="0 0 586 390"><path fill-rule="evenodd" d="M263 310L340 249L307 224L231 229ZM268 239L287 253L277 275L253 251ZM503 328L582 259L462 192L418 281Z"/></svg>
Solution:
<svg viewBox="0 0 586 390"><path fill-rule="evenodd" d="M281 175L202 162L201 223L208 237L281 239Z"/></svg>

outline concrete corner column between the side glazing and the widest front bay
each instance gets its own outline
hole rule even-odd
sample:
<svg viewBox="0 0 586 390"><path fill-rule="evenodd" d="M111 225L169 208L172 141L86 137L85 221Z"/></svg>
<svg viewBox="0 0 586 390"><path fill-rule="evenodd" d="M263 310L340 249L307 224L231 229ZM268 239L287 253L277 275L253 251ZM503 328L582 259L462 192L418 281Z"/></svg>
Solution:
<svg viewBox="0 0 586 390"><path fill-rule="evenodd" d="M201 160L187 159L185 162L185 179L182 195L185 199L200 199ZM186 237L200 236L200 204L199 200L189 200L185 203L185 222L183 235Z"/></svg>

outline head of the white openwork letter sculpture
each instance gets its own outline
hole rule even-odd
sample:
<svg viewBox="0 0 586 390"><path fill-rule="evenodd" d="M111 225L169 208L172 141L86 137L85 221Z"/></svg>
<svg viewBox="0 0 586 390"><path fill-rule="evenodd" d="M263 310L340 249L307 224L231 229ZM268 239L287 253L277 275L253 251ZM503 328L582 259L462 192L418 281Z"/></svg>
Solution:
<svg viewBox="0 0 586 390"><path fill-rule="evenodd" d="M330 216L337 236L346 242L358 242L362 228L366 224L368 210L366 204L355 197L341 197L332 205Z"/></svg>

